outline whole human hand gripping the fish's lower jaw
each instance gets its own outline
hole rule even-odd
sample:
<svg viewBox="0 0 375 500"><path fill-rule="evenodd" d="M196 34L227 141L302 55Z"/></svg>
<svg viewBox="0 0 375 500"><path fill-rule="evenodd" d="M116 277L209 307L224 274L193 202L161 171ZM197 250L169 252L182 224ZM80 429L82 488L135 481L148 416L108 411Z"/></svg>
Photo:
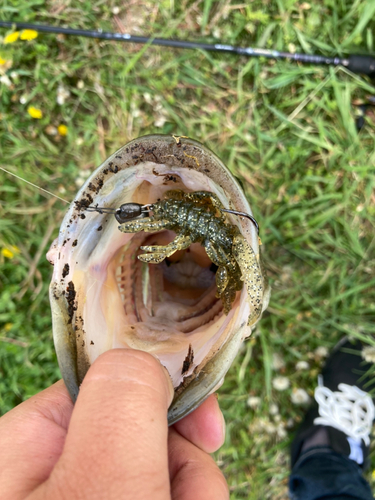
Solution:
<svg viewBox="0 0 375 500"><path fill-rule="evenodd" d="M228 499L215 396L168 429L172 397L151 355L102 354L75 406L60 381L0 419L1 500Z"/></svg>

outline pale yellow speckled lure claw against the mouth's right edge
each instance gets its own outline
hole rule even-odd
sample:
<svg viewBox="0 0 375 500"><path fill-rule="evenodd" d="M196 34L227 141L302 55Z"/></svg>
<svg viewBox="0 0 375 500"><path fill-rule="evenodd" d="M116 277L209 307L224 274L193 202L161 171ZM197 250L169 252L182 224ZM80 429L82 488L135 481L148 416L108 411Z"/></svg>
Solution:
<svg viewBox="0 0 375 500"><path fill-rule="evenodd" d="M263 279L254 250L242 235L233 239L233 255L241 269L250 302L248 325L253 325L262 313Z"/></svg>

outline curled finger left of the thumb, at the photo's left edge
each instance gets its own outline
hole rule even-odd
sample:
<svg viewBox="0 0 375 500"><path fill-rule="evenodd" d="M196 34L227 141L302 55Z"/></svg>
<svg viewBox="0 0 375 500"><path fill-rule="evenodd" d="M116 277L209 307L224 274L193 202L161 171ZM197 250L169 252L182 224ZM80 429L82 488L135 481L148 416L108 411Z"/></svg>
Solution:
<svg viewBox="0 0 375 500"><path fill-rule="evenodd" d="M49 477L62 453L72 409L60 380L0 419L2 500L25 498Z"/></svg>

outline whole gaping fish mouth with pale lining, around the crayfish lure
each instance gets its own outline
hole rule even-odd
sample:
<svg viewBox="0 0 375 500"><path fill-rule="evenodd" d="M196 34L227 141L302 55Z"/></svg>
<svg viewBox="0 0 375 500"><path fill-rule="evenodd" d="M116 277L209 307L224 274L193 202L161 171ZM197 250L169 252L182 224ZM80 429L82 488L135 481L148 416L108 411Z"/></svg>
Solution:
<svg viewBox="0 0 375 500"><path fill-rule="evenodd" d="M217 296L218 266L199 242L161 263L142 262L137 258L144 253L140 247L167 245L177 231L124 233L114 215L87 210L116 209L124 203L144 206L171 190L210 192L223 207L251 214L241 187L212 151L188 138L149 135L123 146L92 174L47 254L54 265L54 342L73 401L100 354L112 348L140 349L157 357L172 378L170 424L222 383L270 295L257 228L245 217L227 214L225 224L237 226L253 252L261 283L255 316L245 283L225 314Z"/></svg>

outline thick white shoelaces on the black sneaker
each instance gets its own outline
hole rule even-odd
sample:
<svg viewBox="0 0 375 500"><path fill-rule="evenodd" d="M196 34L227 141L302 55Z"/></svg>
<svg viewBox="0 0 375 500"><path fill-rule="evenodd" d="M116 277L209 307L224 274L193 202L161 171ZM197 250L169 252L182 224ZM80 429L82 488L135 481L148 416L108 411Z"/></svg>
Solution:
<svg viewBox="0 0 375 500"><path fill-rule="evenodd" d="M320 386L315 389L315 399L319 404L319 417L315 425L329 425L349 438L363 439L370 444L370 432L375 418L375 407L367 392L356 386L339 384L338 391Z"/></svg>

